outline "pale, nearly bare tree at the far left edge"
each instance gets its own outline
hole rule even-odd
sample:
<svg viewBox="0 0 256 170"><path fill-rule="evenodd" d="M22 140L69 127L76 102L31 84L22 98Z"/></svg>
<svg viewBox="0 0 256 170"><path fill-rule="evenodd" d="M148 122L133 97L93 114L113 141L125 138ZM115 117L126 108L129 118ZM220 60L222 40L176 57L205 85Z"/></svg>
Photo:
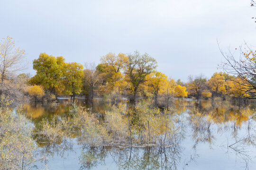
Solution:
<svg viewBox="0 0 256 170"><path fill-rule="evenodd" d="M12 38L3 38L0 42L0 106L6 98L10 101L15 99L12 104L23 98L26 84L16 75L18 71L26 68L25 56L25 50L16 48Z"/></svg>

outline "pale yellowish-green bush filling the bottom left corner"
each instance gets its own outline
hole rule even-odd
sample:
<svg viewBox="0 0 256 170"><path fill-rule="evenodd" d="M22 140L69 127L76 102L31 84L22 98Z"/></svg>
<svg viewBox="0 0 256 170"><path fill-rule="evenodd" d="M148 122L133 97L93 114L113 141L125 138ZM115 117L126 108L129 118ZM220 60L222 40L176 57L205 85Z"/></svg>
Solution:
<svg viewBox="0 0 256 170"><path fill-rule="evenodd" d="M0 108L0 170L27 170L36 161L33 124L24 116Z"/></svg>

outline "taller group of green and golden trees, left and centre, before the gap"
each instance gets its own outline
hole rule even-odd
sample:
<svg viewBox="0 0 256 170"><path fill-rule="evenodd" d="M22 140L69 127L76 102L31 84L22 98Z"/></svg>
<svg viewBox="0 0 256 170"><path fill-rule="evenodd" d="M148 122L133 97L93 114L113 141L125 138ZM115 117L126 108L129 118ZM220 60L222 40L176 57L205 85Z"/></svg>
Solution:
<svg viewBox="0 0 256 170"><path fill-rule="evenodd" d="M135 51L132 54L108 53L101 57L101 63L66 63L63 57L41 53L33 61L36 75L28 81L40 85L43 90L57 95L84 95L89 100L95 95L113 100L128 97L137 102L138 98L154 98L165 95L186 97L186 87L176 84L174 79L156 71L156 60L148 54ZM34 87L35 88L35 87Z"/></svg>

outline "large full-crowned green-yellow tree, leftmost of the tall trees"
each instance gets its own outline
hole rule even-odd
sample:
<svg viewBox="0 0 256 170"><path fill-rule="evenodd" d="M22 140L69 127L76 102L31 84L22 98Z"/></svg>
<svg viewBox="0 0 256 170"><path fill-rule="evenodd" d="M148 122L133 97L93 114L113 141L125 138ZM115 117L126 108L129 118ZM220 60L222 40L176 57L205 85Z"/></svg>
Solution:
<svg viewBox="0 0 256 170"><path fill-rule="evenodd" d="M44 89L54 94L62 93L64 66L65 59L62 56L55 58L52 55L41 53L39 58L33 61L33 69L37 71L37 74L29 80L29 83L42 85Z"/></svg>

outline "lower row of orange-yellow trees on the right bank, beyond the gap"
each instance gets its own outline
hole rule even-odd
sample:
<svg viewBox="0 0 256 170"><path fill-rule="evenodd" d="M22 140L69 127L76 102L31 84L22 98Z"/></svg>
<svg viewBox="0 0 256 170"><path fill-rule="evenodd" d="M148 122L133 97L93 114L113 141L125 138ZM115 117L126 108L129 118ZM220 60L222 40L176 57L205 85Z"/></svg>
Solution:
<svg viewBox="0 0 256 170"><path fill-rule="evenodd" d="M209 80L204 76L189 76L189 82L184 84L189 97L208 99L221 97L222 99L247 98L248 83L240 76L231 76L225 72L214 73Z"/></svg>

